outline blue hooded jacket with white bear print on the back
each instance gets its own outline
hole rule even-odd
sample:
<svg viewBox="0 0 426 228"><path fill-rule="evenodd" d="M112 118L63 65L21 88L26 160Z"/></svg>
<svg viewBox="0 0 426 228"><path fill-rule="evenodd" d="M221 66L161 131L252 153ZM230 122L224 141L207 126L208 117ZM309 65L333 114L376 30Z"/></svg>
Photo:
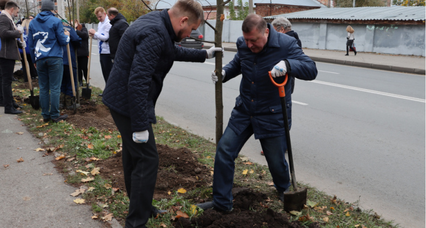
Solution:
<svg viewBox="0 0 426 228"><path fill-rule="evenodd" d="M50 11L39 13L29 23L28 46L32 62L47 57L62 58L61 46L69 43L69 36L63 33L61 20Z"/></svg>

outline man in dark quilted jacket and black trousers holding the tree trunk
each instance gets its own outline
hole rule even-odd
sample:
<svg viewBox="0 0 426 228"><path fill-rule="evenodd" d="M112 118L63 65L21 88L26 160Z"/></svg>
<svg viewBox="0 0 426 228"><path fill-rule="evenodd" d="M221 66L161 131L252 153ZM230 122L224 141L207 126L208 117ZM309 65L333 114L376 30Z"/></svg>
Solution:
<svg viewBox="0 0 426 228"><path fill-rule="evenodd" d="M139 17L118 45L102 101L111 110L123 140L123 170L130 199L126 227L145 227L158 211L152 206L158 152L152 124L163 80L173 61L204 62L215 51L187 49L174 42L188 37L204 18L195 0L178 0L171 9Z"/></svg>

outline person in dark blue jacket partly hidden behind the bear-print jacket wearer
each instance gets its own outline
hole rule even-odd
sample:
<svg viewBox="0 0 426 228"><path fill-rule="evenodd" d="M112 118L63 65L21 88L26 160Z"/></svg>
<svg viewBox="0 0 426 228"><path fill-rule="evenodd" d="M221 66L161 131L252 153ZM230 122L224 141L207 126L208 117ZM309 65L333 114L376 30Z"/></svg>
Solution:
<svg viewBox="0 0 426 228"><path fill-rule="evenodd" d="M77 34L76 30L68 26L68 22L62 20L63 29L69 32L69 54L71 56L71 64L73 66L73 78L74 78L74 88L75 91L78 91L78 78L77 78L77 62L76 62L76 52L75 50L81 46L81 38ZM68 109L73 108L72 97L73 87L71 84L71 77L69 72L69 63L68 63L68 52L66 46L62 46L63 51L63 74L62 74L62 83L61 83L61 95L59 97L59 108L66 107Z"/></svg>

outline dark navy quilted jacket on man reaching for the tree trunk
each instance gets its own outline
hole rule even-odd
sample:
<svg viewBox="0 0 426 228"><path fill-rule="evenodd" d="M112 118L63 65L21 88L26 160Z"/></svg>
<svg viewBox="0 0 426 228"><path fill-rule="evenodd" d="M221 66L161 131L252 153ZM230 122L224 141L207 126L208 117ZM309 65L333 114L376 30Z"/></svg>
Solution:
<svg viewBox="0 0 426 228"><path fill-rule="evenodd" d="M176 34L167 10L153 11L134 21L118 45L102 101L130 118L133 132L155 124L155 103L173 61L204 62L206 50L174 44Z"/></svg>

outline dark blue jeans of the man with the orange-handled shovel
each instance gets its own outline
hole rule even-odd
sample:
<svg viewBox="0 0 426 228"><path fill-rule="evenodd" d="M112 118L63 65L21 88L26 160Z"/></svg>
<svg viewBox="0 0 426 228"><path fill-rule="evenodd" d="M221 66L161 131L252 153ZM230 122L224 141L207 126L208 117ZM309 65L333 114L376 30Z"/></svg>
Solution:
<svg viewBox="0 0 426 228"><path fill-rule="evenodd" d="M252 125L240 135L227 127L216 149L213 174L213 204L224 210L232 210L232 185L234 182L235 159L244 143L253 135ZM286 136L259 139L274 186L278 192L290 187L289 165L284 156L287 150Z"/></svg>

